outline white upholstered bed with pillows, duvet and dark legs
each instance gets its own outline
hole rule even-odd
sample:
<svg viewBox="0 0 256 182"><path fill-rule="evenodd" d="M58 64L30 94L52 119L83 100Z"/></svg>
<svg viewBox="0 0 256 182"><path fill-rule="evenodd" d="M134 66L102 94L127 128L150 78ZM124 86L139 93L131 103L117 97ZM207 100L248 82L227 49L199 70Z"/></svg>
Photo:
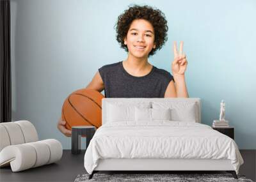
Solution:
<svg viewBox="0 0 256 182"><path fill-rule="evenodd" d="M236 142L201 123L200 98L104 98L102 126L84 155L99 171L227 171L237 179Z"/></svg>

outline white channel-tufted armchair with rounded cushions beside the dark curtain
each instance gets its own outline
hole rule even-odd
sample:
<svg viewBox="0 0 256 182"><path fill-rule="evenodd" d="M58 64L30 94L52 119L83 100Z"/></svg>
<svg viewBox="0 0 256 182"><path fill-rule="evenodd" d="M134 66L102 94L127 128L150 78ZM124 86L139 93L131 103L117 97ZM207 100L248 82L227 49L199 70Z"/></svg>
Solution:
<svg viewBox="0 0 256 182"><path fill-rule="evenodd" d="M35 126L29 121L0 123L0 167L13 172L56 162L62 145L56 139L38 141Z"/></svg>

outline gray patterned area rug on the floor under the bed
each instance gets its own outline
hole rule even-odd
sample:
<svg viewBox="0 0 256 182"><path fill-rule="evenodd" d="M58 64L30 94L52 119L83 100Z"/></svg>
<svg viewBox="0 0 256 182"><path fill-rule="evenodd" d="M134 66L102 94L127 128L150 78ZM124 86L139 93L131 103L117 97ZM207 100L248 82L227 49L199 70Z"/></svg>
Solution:
<svg viewBox="0 0 256 182"><path fill-rule="evenodd" d="M246 179L243 175L237 175L238 179L234 179L232 174L100 174L96 173L92 179L88 179L89 174L79 174L75 182L85 181L172 181L172 182L187 182L187 181L243 181L253 182L251 179Z"/></svg>

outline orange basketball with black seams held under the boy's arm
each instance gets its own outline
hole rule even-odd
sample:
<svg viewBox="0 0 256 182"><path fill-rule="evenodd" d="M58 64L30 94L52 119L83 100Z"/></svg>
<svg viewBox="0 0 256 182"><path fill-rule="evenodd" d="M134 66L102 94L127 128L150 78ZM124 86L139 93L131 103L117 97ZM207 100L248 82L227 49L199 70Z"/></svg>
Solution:
<svg viewBox="0 0 256 182"><path fill-rule="evenodd" d="M101 100L104 96L93 89L79 89L71 93L62 106L61 118L66 128L72 126L101 126Z"/></svg>

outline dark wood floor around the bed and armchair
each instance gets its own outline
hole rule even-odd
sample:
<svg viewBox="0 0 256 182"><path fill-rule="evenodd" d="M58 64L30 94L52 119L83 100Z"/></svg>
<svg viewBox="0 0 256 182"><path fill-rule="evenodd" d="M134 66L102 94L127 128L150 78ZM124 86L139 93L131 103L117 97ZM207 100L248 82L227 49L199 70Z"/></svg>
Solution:
<svg viewBox="0 0 256 182"><path fill-rule="evenodd" d="M246 178L255 181L256 150L241 150L240 152L244 164L241 165L239 174L244 174ZM56 163L21 172L12 172L10 167L1 168L0 181L74 181L78 174L86 173L83 160L84 151L79 155L72 155L70 150L64 150L61 160Z"/></svg>

